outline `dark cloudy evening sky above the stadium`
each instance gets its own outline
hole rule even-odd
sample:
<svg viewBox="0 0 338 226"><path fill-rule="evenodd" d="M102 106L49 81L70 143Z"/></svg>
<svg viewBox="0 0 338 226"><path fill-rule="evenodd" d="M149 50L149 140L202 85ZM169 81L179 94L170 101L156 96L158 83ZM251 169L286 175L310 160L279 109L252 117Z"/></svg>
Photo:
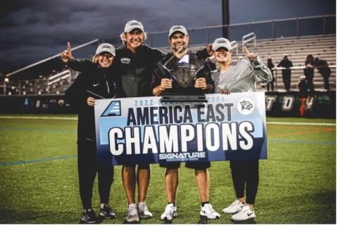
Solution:
<svg viewBox="0 0 338 226"><path fill-rule="evenodd" d="M220 25L221 2L0 0L0 72L8 73L53 56L65 49L68 40L77 46L96 38L118 37L128 20L141 21L147 32L168 31L177 24L187 28ZM292 10L282 11L284 6L292 7ZM230 23L242 23L267 20L272 16L321 15L330 9L335 13L335 1L230 0L230 9Z"/></svg>

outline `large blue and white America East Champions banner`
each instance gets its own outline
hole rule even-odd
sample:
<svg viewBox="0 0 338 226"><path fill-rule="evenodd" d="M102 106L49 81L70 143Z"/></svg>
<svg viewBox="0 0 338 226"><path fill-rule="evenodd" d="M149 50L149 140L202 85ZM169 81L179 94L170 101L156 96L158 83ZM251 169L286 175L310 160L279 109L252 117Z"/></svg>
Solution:
<svg viewBox="0 0 338 226"><path fill-rule="evenodd" d="M99 163L266 159L264 92L207 94L206 103L161 97L95 103Z"/></svg>

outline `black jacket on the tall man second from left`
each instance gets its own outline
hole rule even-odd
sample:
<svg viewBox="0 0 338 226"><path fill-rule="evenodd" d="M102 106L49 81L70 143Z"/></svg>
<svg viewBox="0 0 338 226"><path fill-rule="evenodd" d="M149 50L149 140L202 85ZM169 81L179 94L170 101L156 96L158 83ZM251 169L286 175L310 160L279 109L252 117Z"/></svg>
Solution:
<svg viewBox="0 0 338 226"><path fill-rule="evenodd" d="M133 54L125 44L116 49L115 63L126 97L152 96L150 88L155 63L165 54L142 44Z"/></svg>

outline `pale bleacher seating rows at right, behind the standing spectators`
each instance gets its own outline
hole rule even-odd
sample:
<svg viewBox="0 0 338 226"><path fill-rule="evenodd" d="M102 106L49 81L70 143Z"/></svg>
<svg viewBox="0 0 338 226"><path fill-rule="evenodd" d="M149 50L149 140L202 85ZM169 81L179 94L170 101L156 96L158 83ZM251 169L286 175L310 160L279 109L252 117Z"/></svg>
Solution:
<svg viewBox="0 0 338 226"><path fill-rule="evenodd" d="M237 42L239 46L239 54L233 51L232 58L236 59L242 56L246 58L242 51L242 42ZM308 54L312 54L313 57L324 59L329 63L332 70L330 76L331 89L336 88L336 36L326 37L297 37L297 38L282 38L282 39L261 39L256 40L256 46L252 42L246 44L249 51L258 54L264 63L267 62L268 57L271 57L274 65L277 67L278 63L283 58L284 54L289 55L289 60L294 64L292 69L292 90L298 90L297 84L299 77L303 75L303 67L305 58ZM203 49L205 46L192 46L192 51ZM168 48L161 49L162 51L169 51ZM277 73L276 73L277 71ZM276 76L277 75L277 76ZM282 82L281 69L275 70L276 84L275 89L277 91L284 91L284 84ZM313 84L316 90L324 90L323 77L315 69L315 75L313 77ZM257 87L260 90L266 90L266 85L262 84Z"/></svg>

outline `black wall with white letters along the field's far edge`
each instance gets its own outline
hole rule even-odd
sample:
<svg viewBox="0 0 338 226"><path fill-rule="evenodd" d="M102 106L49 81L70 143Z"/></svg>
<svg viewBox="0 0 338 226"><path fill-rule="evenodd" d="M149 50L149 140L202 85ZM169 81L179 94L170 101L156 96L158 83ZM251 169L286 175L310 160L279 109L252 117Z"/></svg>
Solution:
<svg viewBox="0 0 338 226"><path fill-rule="evenodd" d="M299 92L266 92L266 115L301 117ZM0 96L0 113L76 113L63 95ZM336 118L336 92L313 92L304 101L306 118Z"/></svg>

